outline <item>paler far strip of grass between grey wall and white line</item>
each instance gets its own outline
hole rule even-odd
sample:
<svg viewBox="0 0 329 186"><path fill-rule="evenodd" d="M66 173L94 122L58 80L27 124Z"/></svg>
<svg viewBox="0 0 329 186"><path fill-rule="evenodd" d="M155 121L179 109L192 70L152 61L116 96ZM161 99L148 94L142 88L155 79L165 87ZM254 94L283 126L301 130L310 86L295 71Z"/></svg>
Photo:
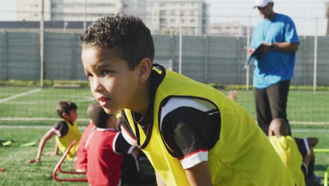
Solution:
<svg viewBox="0 0 329 186"><path fill-rule="evenodd" d="M78 118L86 118L86 107L93 97L88 88L53 89L44 88L29 93L30 87L0 87L0 125L46 125L39 120L13 120L15 118L58 118L58 101L75 101L78 106ZM224 90L224 94L228 91ZM22 95L23 94L23 95ZM18 97L13 97L17 96ZM239 90L238 103L255 116L252 90ZM290 91L288 98L288 118L293 122L329 123L329 91ZM11 118L6 120L6 118ZM37 122L36 122L37 121ZM53 122L51 122L53 123Z"/></svg>

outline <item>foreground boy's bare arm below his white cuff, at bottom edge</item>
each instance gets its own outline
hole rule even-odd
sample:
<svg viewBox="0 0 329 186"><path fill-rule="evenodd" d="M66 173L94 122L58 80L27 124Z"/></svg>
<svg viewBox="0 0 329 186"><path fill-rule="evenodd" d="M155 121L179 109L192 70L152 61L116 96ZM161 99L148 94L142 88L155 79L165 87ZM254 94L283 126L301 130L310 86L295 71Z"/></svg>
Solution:
<svg viewBox="0 0 329 186"><path fill-rule="evenodd" d="M191 168L185 170L186 177L190 185L212 185L212 178L209 173L207 161L203 161Z"/></svg>

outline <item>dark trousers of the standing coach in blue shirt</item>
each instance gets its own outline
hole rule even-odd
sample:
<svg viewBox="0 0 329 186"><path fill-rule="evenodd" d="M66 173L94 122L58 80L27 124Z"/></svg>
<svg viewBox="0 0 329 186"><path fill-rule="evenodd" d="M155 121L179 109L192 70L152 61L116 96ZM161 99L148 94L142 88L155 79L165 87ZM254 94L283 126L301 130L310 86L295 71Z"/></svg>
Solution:
<svg viewBox="0 0 329 186"><path fill-rule="evenodd" d="M256 103L257 122L267 135L269 124L274 118L287 118L287 101L290 80L278 82L264 89L254 87L254 99ZM289 122L288 122L289 124ZM291 135L290 125L289 135Z"/></svg>

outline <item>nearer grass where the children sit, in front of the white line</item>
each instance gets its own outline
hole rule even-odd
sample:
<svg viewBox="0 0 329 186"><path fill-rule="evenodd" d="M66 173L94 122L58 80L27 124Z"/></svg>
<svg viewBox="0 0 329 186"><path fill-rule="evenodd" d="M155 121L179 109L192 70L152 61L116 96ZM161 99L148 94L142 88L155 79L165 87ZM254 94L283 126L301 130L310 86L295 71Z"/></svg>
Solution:
<svg viewBox="0 0 329 186"><path fill-rule="evenodd" d="M6 168L0 172L0 185L88 185L86 182L56 182L51 174L60 156L41 157L40 163L27 163L37 154L37 146L20 147L27 142L38 142L48 129L1 129L0 140L14 140L9 147L0 147L0 167ZM329 148L329 135L325 132L293 132L295 137L318 137L316 148ZM44 152L53 151L55 140L51 139ZM329 166L329 153L316 154L315 174L323 178L324 171ZM72 171L74 164L70 161L63 163L63 170ZM150 172L150 166L144 166ZM60 178L67 178L59 175ZM72 178L72 175L69 176ZM151 184L151 185L155 185Z"/></svg>

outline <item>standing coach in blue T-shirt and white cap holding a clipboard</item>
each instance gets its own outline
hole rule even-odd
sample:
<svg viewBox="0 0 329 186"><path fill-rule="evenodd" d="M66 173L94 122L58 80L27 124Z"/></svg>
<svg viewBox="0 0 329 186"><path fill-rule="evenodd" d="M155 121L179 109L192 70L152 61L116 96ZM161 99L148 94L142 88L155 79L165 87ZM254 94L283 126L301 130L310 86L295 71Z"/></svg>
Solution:
<svg viewBox="0 0 329 186"><path fill-rule="evenodd" d="M254 8L258 8L263 20L254 28L248 48L251 54L259 46L255 51L253 85L257 121L265 134L274 118L288 121L288 92L299 46L294 22L288 16L275 13L273 6L273 0L254 1Z"/></svg>

